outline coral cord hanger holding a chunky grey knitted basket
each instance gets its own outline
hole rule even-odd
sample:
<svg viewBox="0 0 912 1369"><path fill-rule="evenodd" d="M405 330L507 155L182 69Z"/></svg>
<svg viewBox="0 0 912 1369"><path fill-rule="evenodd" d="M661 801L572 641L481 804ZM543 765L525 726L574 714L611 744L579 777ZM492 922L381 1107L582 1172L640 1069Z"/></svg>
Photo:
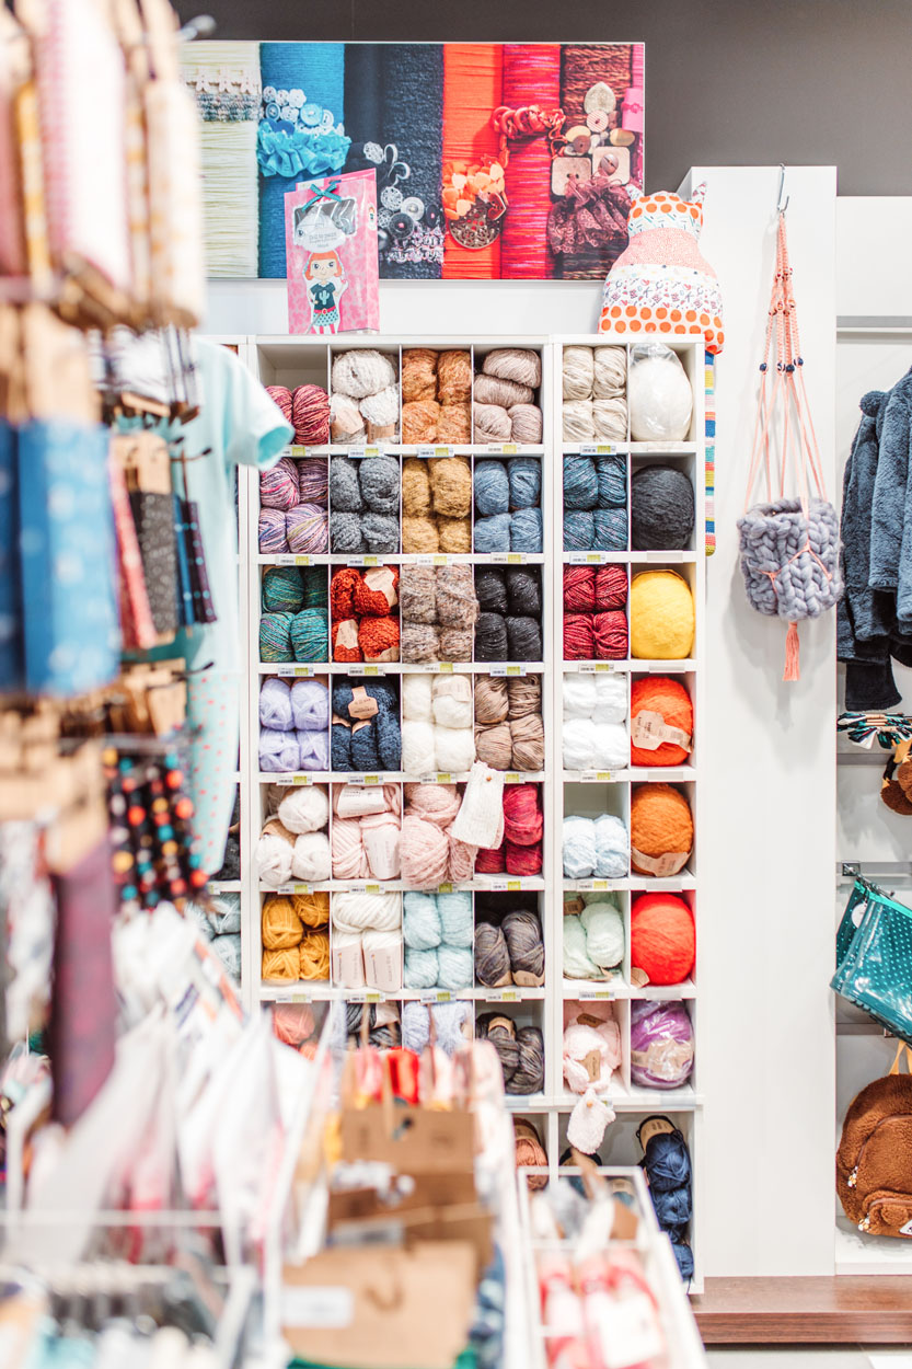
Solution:
<svg viewBox="0 0 912 1369"><path fill-rule="evenodd" d="M757 612L783 617L789 623L782 678L797 680L798 623L833 608L842 593L842 583L838 519L826 497L820 448L804 383L786 237L789 200L782 201L783 183L785 167L779 179L776 268L760 363L757 419L745 511L738 519L738 528L748 598ZM797 498L786 496L790 464L797 481ZM761 470L765 472L767 502L750 505Z"/></svg>

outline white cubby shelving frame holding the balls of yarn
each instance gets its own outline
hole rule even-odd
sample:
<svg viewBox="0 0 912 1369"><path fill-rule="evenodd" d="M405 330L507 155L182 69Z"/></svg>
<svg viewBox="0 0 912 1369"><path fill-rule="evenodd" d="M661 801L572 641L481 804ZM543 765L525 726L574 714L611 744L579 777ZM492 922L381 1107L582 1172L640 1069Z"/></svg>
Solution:
<svg viewBox="0 0 912 1369"><path fill-rule="evenodd" d="M663 782L679 787L687 797L693 815L694 828L700 832L700 786L697 773L700 768L698 730L702 716L702 668L701 660L705 646L705 554L704 554L704 353L698 341L686 338L664 340L678 352L682 364L692 382L694 405L692 430L687 441L674 445L649 445L642 442L616 444L566 444L563 441L561 426L561 359L566 345L582 344L596 345L627 345L630 338L611 334L579 335L566 338L549 337L334 337L334 338L296 338L296 337L251 337L241 355L253 374L264 385L286 385L293 389L301 383L316 383L330 389L331 357L338 352L348 352L356 348L375 348L388 353L396 363L397 374L401 375L401 353L409 346L445 349L467 349L472 353L474 366L479 367L481 359L494 348L522 346L541 355L542 382L538 402L544 412L542 442L535 446L504 444L466 444L466 445L438 445L433 448L407 446L401 442L388 439L375 446L393 456L423 456L430 460L440 456L464 455L474 467L478 457L489 456L531 456L542 463L541 481L541 508L544 519L544 542L541 553L500 552L493 554L407 554L398 550L390 554L345 554L327 552L325 554L294 554L282 553L267 556L259 550L257 523L259 523L259 479L253 470L241 471L241 482L245 490L241 494L241 585L242 585L242 642L248 660L246 691L242 715L242 910L244 910L244 993L248 1006L271 1005L274 1002L311 1002L315 1010L322 1010L320 1005L333 999L348 1002L378 1002L383 998L397 1001L414 998L423 1002L446 1002L452 999L468 999L475 1005L475 1012L485 1010L503 1012L515 1019L519 1027L537 1025L542 1031L545 1040L545 1083L538 1094L509 1097L508 1102L515 1114L527 1117L537 1128L542 1140L548 1166L552 1173L557 1172L560 1157L567 1147L567 1123L577 1101L563 1082L563 1013L568 1001L611 1001L622 1034L623 1062L615 1075L611 1087L609 1101L616 1112L616 1120L608 1127L605 1140L600 1150L603 1161L608 1165L634 1165L641 1158L637 1140L637 1128L644 1117L652 1113L667 1114L683 1132L693 1157L694 1166L694 1218L690 1224L690 1240L694 1251L696 1275L690 1284L692 1291L702 1287L702 1259L700 1250L700 1188L701 1177L701 1125L702 1125L702 1097L698 1083L700 1042L697 1035L697 1069L692 1080L679 1090L667 1092L641 1088L630 1082L630 1003L637 998L644 999L685 999L693 1017L694 1032L698 1027L697 990L698 969L683 984L671 987L645 986L637 987L630 976L630 950L627 936L627 950L620 973L604 982L571 980L563 975L563 895L566 890L593 890L615 891L619 897L624 928L629 931L631 901L639 893L671 890L681 893L694 909L697 920L697 957L700 961L700 899L697 880L697 850L698 835L694 852L687 867L670 879L656 879L650 876L627 876L619 880L564 880L563 879L563 852L561 830L564 813L578 812L594 816L601 812L613 812L629 823L631 786L639 783ZM401 428L397 428L401 433ZM690 545L685 550L676 552L572 552L563 550L563 455L571 452L592 452L597 455L618 453L626 459L627 479L627 511L630 509L630 478L634 471L646 464L671 464L685 471L693 482L696 496L696 523ZM290 448L289 455L296 457L319 457L327 461L334 455L351 455L352 448L344 445L329 445L322 448ZM367 457L366 457L367 459ZM331 508L330 508L331 516ZM401 520L400 520L401 522ZM630 537L630 530L629 534ZM401 548L401 541L400 541ZM289 663L263 664L259 658L259 622L260 622L260 585L267 567L270 565L300 565L322 568L329 583L333 568L338 565L403 565L403 564L470 564L470 565L530 565L538 567L542 589L542 660L526 663L437 663L427 665L409 665L401 663L390 664L349 664L349 663ZM612 661L564 661L563 660L563 567L570 563L604 564L618 563L627 570L629 576L642 570L670 568L678 571L690 585L696 604L696 645L689 660L674 661L645 661L623 660ZM246 570L245 570L246 567ZM331 648L330 648L331 654ZM542 721L545 732L545 767L537 773L508 772L507 784L534 782L541 786L542 808L545 815L544 832L544 864L538 876L511 876L511 875L477 875L466 884L456 886L477 895L485 893L498 893L504 895L529 893L535 895L538 912L542 921L545 938L545 983L540 988L524 988L509 986L505 988L486 988L481 984L468 990L403 990L385 995L372 990L351 990L330 983L299 982L275 983L263 982L260 975L262 943L260 943L260 910L263 898L270 893L308 893L325 888L333 895L342 890L366 891L398 891L403 883L398 880L379 883L374 880L344 882L327 880L320 886L307 886L293 883L277 890L259 882L257 873L252 868L251 853L256 845L262 821L267 813L267 787L270 784L326 784L331 783L396 783L401 784L414 779L435 780L438 783L459 783L467 775L435 773L435 775L407 775L404 772L381 773L348 773L348 772L299 772L299 773L266 773L259 769L259 690L260 683L270 675L300 678L315 676L331 684L337 676L366 676L392 679L401 678L408 672L466 672L503 674L507 676L538 674L542 678ZM694 705L694 732L697 741L689 764L682 767L650 767L619 769L616 772L585 771L571 772L563 768L563 679L574 671L611 671L623 675L627 682L627 698L630 697L630 682L644 675L674 675L679 676L687 687ZM244 735L245 734L245 735ZM331 823L330 815L330 823ZM442 886L448 890L449 886ZM478 909L475 909L478 916Z"/></svg>

